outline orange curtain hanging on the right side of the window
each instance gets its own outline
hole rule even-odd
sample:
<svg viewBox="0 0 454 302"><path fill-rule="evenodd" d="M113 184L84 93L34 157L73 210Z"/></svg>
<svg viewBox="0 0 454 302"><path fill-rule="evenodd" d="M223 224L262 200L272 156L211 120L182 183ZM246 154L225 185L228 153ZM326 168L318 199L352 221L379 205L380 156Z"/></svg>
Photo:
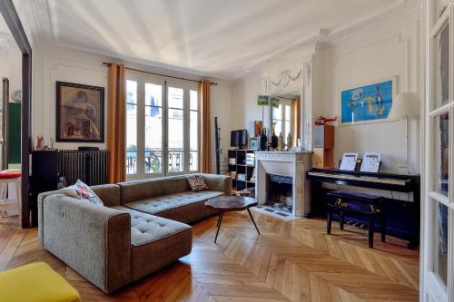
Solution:
<svg viewBox="0 0 454 302"><path fill-rule="evenodd" d="M200 171L212 172L212 119L210 116L210 81L202 81L199 85L201 95L201 153Z"/></svg>

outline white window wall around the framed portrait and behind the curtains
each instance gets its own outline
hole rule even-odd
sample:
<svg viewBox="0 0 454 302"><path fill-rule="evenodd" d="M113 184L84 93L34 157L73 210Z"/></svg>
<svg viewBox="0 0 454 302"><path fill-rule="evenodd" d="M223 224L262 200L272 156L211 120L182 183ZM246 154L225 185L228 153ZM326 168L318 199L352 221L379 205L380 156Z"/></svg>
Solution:
<svg viewBox="0 0 454 302"><path fill-rule="evenodd" d="M51 139L55 138L55 82L63 81L70 83L83 83L87 85L104 87L105 109L107 114L107 67L103 62L115 61L112 58L88 54L84 52L72 51L68 49L53 48L35 51L34 56L34 99L32 107L32 130L33 144L36 144L36 136L43 135L44 143L51 144ZM164 73L174 76L182 76L199 80L200 76L193 74L178 73L162 68L151 68L135 63L126 63L134 68L149 70L154 73ZM212 86L212 166L214 170L214 116L219 117L222 126L222 147L223 157L227 154L227 143L230 140L230 108L232 102L232 83L220 79L211 79L218 85ZM105 137L107 136L107 119L104 119ZM97 146L101 149L106 148L104 143L75 143L75 142L54 142L54 148L58 149L77 149L78 146ZM223 160L225 161L225 160Z"/></svg>

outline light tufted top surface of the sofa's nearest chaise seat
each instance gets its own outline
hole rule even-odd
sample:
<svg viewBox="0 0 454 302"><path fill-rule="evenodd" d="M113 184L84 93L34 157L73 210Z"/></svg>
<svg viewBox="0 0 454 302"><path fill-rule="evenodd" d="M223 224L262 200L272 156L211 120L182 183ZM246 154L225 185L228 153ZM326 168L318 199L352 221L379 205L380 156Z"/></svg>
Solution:
<svg viewBox="0 0 454 302"><path fill-rule="evenodd" d="M173 236L191 226L171 219L164 219L126 207L114 207L131 215L131 244L141 246L159 239Z"/></svg>

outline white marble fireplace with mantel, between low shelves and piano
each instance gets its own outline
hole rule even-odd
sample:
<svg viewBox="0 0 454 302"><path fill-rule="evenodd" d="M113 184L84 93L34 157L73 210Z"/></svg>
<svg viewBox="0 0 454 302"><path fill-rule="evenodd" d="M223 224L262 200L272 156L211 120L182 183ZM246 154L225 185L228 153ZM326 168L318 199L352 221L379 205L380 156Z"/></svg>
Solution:
<svg viewBox="0 0 454 302"><path fill-rule="evenodd" d="M311 211L311 186L306 171L311 152L255 152L257 209L272 216L294 219Z"/></svg>

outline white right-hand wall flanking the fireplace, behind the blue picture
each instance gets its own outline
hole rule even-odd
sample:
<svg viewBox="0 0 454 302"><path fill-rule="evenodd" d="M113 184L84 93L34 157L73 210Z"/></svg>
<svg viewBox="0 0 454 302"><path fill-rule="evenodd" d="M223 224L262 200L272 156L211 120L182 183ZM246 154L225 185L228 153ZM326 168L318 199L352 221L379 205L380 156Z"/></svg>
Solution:
<svg viewBox="0 0 454 302"><path fill-rule="evenodd" d="M340 88L397 76L397 93L420 93L420 15L400 16L387 25L346 36L341 43L317 49L313 116L341 116ZM248 128L262 119L256 105L262 73L247 73L233 83L232 126ZM304 100L303 100L304 102ZM378 151L382 170L406 172L405 122L340 126L335 131L335 162L346 151ZM419 172L419 121L410 121L410 171Z"/></svg>

